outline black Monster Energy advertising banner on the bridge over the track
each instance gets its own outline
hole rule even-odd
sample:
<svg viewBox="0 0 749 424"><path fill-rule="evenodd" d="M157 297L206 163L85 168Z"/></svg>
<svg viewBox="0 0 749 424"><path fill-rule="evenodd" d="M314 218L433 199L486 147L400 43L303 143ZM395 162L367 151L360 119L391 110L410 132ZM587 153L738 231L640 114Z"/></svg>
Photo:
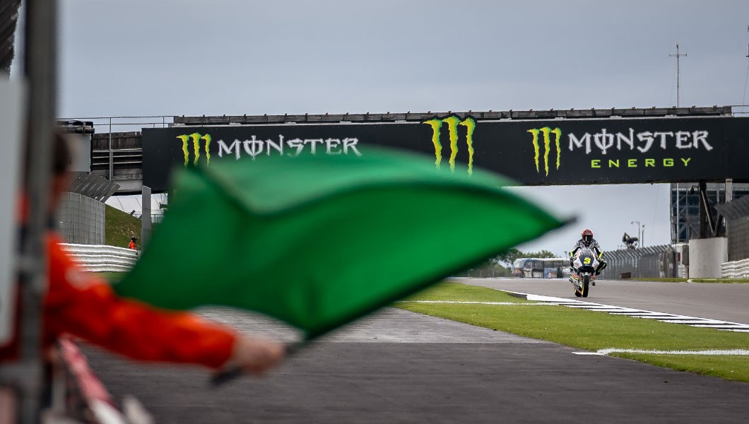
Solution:
<svg viewBox="0 0 749 424"><path fill-rule="evenodd" d="M435 166L482 168L523 185L749 181L749 118L618 118L263 124L143 130L143 184L166 190L174 166L302 153L416 151ZM290 161L290 165L293 161ZM456 171L457 172L457 171Z"/></svg>

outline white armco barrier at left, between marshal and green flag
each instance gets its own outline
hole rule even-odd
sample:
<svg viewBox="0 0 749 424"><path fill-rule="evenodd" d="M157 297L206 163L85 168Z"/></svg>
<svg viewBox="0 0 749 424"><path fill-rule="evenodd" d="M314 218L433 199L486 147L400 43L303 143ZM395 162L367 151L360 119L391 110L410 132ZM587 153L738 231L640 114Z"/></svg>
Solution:
<svg viewBox="0 0 749 424"><path fill-rule="evenodd" d="M76 264L95 273L124 272L138 260L137 250L124 247L63 243L62 248L73 256Z"/></svg>

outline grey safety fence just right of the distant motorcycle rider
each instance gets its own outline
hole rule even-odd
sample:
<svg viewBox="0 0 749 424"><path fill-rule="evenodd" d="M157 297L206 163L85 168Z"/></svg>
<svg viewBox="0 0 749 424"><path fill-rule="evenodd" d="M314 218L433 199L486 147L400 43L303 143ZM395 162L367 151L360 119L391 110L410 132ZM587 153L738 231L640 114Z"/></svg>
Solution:
<svg viewBox="0 0 749 424"><path fill-rule="evenodd" d="M647 246L604 252L605 279L673 278L677 275L676 250L672 246Z"/></svg>

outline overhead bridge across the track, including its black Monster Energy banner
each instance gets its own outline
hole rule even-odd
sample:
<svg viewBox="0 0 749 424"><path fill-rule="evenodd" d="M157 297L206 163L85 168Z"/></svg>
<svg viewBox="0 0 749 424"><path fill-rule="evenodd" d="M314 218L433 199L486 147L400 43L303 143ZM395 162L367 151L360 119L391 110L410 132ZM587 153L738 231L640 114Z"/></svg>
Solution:
<svg viewBox="0 0 749 424"><path fill-rule="evenodd" d="M732 199L734 184L740 194L749 183L749 118L736 115L731 106L693 106L116 117L63 124L82 133L84 142L88 137L88 169L81 170L115 184L116 194L140 194L144 185L163 192L172 169L206 163L209 154L210 161L251 161L302 152L362 154L383 145L425 154L437 167L488 169L525 185L672 183L673 239L679 241L690 238L691 225L700 237L721 234L715 205ZM726 184L725 195L712 199L710 193L722 190L715 186L727 181L733 184ZM699 190L691 199L693 186Z"/></svg>

